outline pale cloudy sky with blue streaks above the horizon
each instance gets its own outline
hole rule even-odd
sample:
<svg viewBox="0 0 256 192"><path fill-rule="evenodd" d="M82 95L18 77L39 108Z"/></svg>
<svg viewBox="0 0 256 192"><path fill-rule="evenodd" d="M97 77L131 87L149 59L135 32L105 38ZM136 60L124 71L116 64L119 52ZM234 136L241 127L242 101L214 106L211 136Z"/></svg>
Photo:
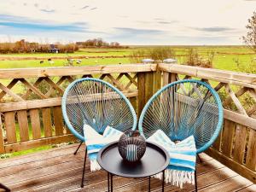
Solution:
<svg viewBox="0 0 256 192"><path fill-rule="evenodd" d="M256 0L0 0L0 42L242 44Z"/></svg>

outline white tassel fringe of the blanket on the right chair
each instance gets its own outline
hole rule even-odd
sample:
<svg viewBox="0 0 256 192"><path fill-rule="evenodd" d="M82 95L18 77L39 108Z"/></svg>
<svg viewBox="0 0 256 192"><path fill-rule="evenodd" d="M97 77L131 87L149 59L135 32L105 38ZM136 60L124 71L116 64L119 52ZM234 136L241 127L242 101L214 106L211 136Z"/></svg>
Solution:
<svg viewBox="0 0 256 192"><path fill-rule="evenodd" d="M153 177L162 179L163 173L160 172ZM185 172L167 169L165 171L165 182L172 183L177 187L183 189L183 183L195 184L195 172Z"/></svg>

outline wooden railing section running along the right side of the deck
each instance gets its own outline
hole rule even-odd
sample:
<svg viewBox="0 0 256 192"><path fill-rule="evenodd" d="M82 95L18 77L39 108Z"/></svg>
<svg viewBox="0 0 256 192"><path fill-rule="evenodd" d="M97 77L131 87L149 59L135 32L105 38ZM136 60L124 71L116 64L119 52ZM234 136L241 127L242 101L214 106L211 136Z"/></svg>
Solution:
<svg viewBox="0 0 256 192"><path fill-rule="evenodd" d="M163 84L201 79L218 91L224 106L224 126L207 150L214 159L256 183L256 74L160 64Z"/></svg>

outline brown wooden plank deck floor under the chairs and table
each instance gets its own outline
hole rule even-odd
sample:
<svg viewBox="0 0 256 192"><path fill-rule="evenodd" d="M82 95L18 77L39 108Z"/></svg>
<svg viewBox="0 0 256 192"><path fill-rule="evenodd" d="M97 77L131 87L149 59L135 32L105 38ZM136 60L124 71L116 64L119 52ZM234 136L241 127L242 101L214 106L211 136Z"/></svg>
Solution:
<svg viewBox="0 0 256 192"><path fill-rule="evenodd" d="M73 151L78 144L54 148L36 154L0 160L0 183L12 191L106 191L107 173L90 172L86 164L85 186L80 189L83 169L84 148L77 155ZM199 191L256 191L256 186L246 178L220 164L217 160L201 154L202 163L198 164ZM147 178L113 178L114 191L147 191ZM1 191L1 189L0 189ZM151 180L151 191L160 191L160 181ZM194 191L194 186L185 185L177 189L166 184L165 191Z"/></svg>

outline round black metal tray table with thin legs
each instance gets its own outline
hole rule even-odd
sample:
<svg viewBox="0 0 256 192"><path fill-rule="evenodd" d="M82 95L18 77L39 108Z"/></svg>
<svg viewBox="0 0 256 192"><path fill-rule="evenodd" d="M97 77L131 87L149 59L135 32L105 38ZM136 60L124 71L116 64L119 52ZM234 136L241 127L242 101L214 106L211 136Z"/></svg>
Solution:
<svg viewBox="0 0 256 192"><path fill-rule="evenodd" d="M143 158L136 163L128 163L122 159L117 142L109 143L97 155L99 165L108 172L108 191L113 191L113 175L120 177L148 177L148 191L150 191L150 176L160 172L163 173L162 191L164 191L165 170L169 165L169 159L169 154L164 148L148 142Z"/></svg>

